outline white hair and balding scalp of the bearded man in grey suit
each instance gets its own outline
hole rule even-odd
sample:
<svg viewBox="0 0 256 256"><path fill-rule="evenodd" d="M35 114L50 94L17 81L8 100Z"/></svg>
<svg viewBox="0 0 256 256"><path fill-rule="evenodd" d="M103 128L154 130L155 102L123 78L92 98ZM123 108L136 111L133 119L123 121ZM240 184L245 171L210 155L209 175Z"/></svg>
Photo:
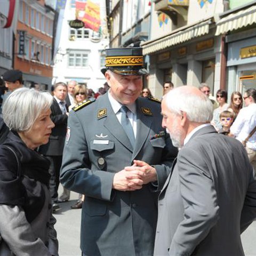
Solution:
<svg viewBox="0 0 256 256"><path fill-rule="evenodd" d="M187 88L189 89L188 85ZM198 90L194 88L194 91ZM213 118L213 105L211 100L198 90L197 93L191 90L184 90L184 86L168 92L164 99L167 107L177 115L187 113L190 122L210 123Z"/></svg>

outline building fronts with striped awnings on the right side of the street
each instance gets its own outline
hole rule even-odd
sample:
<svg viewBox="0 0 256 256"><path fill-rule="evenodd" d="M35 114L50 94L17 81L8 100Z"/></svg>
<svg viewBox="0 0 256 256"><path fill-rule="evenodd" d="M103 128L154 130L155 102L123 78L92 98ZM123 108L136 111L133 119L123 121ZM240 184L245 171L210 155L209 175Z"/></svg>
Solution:
<svg viewBox="0 0 256 256"><path fill-rule="evenodd" d="M254 86L256 1L143 1L144 17L140 2L110 1L110 45L143 47L144 84L157 98L165 81L174 87L207 83L214 95ZM125 13L135 18L124 19Z"/></svg>

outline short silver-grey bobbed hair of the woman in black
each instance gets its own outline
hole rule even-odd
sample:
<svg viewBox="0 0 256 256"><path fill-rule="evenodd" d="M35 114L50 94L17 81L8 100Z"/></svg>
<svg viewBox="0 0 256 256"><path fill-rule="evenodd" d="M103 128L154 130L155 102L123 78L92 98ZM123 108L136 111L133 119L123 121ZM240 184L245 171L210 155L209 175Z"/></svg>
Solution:
<svg viewBox="0 0 256 256"><path fill-rule="evenodd" d="M3 119L10 130L29 131L42 111L51 107L49 92L20 88L13 91L3 105Z"/></svg>

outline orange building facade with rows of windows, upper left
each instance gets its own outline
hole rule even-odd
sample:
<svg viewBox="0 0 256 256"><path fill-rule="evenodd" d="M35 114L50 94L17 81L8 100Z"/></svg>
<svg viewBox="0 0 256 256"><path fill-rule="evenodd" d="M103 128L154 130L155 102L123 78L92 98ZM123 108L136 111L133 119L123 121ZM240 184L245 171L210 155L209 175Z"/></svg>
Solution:
<svg viewBox="0 0 256 256"><path fill-rule="evenodd" d="M23 73L23 83L37 83L50 90L52 83L52 44L55 12L44 0L16 1L19 4L14 44L14 69Z"/></svg>

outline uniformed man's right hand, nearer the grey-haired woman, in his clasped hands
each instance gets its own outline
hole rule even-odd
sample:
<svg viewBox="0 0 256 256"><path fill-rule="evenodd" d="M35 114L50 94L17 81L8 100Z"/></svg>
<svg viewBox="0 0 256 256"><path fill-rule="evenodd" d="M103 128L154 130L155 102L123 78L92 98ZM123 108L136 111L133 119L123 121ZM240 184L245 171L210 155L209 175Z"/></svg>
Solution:
<svg viewBox="0 0 256 256"><path fill-rule="evenodd" d="M131 170L129 172L122 170L117 172L114 176L113 188L120 191L134 191L141 189L143 185L143 180L141 178L144 175L145 173L140 170Z"/></svg>

